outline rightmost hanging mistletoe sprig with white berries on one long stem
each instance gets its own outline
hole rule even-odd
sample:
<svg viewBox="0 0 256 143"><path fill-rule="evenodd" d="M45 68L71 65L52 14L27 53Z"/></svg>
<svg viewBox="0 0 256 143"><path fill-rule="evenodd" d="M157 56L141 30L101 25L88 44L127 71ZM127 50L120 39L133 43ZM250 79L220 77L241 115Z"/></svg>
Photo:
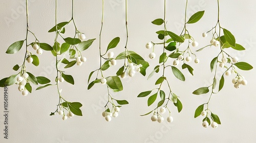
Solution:
<svg viewBox="0 0 256 143"><path fill-rule="evenodd" d="M223 32L223 34L221 33ZM217 128L219 124L221 124L220 118L218 115L212 113L212 111L209 109L209 102L213 94L217 94L224 86L224 75L225 76L231 76L235 75L232 79L232 83L234 84L235 88L239 88L240 85L246 85L247 81L245 78L240 75L237 71L237 68L242 70L250 70L253 67L246 63L246 62L239 62L239 59L237 57L232 57L230 54L228 54L225 49L231 47L234 50L242 51L245 50L245 48L236 43L236 38L231 34L230 31L227 29L221 27L220 25L220 3L218 0L218 21L216 23L216 26L212 28L211 30L205 32L202 34L203 37L206 37L209 33L212 33L212 39L210 40L210 44L205 46L215 46L220 47L220 53L211 60L210 62L210 70L211 72L214 71L214 79L211 85L207 87L201 87L193 92L193 94L200 95L205 94L210 91L209 100L207 103L204 103L200 105L196 111L195 111L195 118L202 115L205 116L203 119L203 127L208 127L211 125L212 128ZM202 51L205 47L202 47L198 51ZM218 67L219 65L219 67ZM219 80L219 89L215 90L217 86L217 70L218 68L225 68L224 73L221 76L221 79ZM211 121L210 121L211 119Z"/></svg>

